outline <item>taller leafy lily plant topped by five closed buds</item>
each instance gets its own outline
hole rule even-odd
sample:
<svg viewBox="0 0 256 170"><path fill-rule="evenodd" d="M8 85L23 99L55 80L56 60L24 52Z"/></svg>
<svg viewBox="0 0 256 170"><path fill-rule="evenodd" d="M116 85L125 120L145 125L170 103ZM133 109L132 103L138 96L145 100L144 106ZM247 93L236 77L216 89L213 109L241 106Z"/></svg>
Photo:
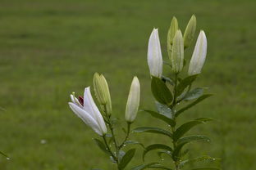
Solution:
<svg viewBox="0 0 256 170"><path fill-rule="evenodd" d="M148 65L151 74L151 91L153 93L156 109L143 110L150 114L154 119L160 119L167 123L167 129L158 127L139 127L135 128L134 132L149 132L167 136L171 139L170 143L157 143L148 145L143 152L143 160L145 156L152 150L158 150L158 155L162 159L162 155L166 154L171 159L167 163L144 163L132 170L142 170L147 168L180 170L187 164L200 161L217 160L208 155L189 159L186 145L194 141L210 141L208 136L193 135L186 136L186 133L195 126L206 123L213 119L197 118L185 123L181 123L179 118L186 110L190 110L194 105L207 99L212 94L204 94L203 87L192 87L196 78L199 77L207 54L207 38L203 30L199 32L194 52L190 59L190 65L186 75L182 74L185 71L186 59L185 50L190 47L194 39L196 31L196 18L193 15L185 28L185 33L182 35L178 25L178 20L173 17L171 26L167 34L167 54L169 61L162 61L162 51L158 37L158 29L153 29L149 38L148 47ZM169 77L162 74L162 65L166 64L170 69ZM179 124L179 126L177 126ZM180 125L181 124L181 125ZM219 168L194 168L194 170L216 170Z"/></svg>

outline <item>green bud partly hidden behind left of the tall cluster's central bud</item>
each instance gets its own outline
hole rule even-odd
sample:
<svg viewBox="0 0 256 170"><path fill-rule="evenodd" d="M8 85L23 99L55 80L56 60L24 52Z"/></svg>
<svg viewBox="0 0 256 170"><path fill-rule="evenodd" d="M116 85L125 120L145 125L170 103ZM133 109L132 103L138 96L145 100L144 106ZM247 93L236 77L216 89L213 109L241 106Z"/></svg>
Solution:
<svg viewBox="0 0 256 170"><path fill-rule="evenodd" d="M171 56L171 46L172 46L173 38L178 29L179 29L178 20L176 19L175 16L173 16L171 20L171 26L167 34L167 51L169 56Z"/></svg>

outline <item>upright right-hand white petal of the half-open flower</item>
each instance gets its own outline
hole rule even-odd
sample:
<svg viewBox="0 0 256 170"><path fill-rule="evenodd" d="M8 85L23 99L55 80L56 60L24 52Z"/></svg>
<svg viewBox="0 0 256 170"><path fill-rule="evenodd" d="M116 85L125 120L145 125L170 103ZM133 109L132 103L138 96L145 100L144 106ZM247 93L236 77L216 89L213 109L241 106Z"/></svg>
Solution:
<svg viewBox="0 0 256 170"><path fill-rule="evenodd" d="M103 133L107 133L107 127L103 120L102 114L100 114L97 105L94 103L94 99L91 95L89 87L85 88L84 93L84 110L89 113L98 123Z"/></svg>

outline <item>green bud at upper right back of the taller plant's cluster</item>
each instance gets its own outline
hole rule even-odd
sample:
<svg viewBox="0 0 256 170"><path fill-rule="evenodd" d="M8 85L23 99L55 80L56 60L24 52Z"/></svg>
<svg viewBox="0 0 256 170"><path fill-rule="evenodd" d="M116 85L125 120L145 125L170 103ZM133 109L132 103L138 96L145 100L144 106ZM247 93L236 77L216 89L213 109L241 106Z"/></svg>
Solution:
<svg viewBox="0 0 256 170"><path fill-rule="evenodd" d="M184 47L189 47L190 43L192 42L194 38L194 33L196 29L196 18L195 16L191 16L190 21L188 25L185 28L185 33L184 33Z"/></svg>

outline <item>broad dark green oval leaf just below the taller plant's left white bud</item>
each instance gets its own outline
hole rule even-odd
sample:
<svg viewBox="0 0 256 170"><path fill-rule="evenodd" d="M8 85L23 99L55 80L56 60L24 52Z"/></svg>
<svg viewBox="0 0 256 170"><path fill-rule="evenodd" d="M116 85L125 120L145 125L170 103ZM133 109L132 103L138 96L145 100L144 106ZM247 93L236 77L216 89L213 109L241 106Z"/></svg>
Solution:
<svg viewBox="0 0 256 170"><path fill-rule="evenodd" d="M160 79L152 76L151 91L154 98L165 105L170 105L172 101L172 95L167 85Z"/></svg>

